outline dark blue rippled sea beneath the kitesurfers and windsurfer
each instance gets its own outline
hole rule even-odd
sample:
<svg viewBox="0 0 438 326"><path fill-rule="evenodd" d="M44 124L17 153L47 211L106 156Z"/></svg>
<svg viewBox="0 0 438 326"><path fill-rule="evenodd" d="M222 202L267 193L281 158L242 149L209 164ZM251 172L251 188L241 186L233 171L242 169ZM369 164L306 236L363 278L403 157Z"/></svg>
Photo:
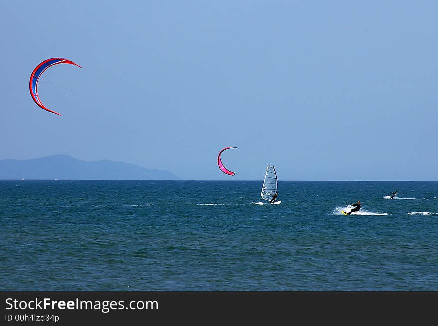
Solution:
<svg viewBox="0 0 438 326"><path fill-rule="evenodd" d="M438 182L261 187L1 181L0 290L438 291Z"/></svg>

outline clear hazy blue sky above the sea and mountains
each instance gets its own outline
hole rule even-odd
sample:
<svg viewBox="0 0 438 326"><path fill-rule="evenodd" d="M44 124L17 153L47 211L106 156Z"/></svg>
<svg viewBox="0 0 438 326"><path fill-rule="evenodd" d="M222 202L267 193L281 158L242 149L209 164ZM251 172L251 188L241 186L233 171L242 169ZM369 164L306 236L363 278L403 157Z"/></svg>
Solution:
<svg viewBox="0 0 438 326"><path fill-rule="evenodd" d="M2 1L0 159L438 180L437 1ZM42 75L51 57L76 62ZM218 152L235 176L222 173Z"/></svg>

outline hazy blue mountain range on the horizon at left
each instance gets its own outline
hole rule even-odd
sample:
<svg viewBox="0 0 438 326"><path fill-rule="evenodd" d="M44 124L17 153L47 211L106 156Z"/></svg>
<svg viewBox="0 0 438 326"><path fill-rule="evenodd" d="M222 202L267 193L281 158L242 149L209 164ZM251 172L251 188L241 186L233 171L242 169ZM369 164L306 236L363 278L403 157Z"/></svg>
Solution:
<svg viewBox="0 0 438 326"><path fill-rule="evenodd" d="M0 180L180 180L166 170L124 162L81 161L68 155L0 160Z"/></svg>

